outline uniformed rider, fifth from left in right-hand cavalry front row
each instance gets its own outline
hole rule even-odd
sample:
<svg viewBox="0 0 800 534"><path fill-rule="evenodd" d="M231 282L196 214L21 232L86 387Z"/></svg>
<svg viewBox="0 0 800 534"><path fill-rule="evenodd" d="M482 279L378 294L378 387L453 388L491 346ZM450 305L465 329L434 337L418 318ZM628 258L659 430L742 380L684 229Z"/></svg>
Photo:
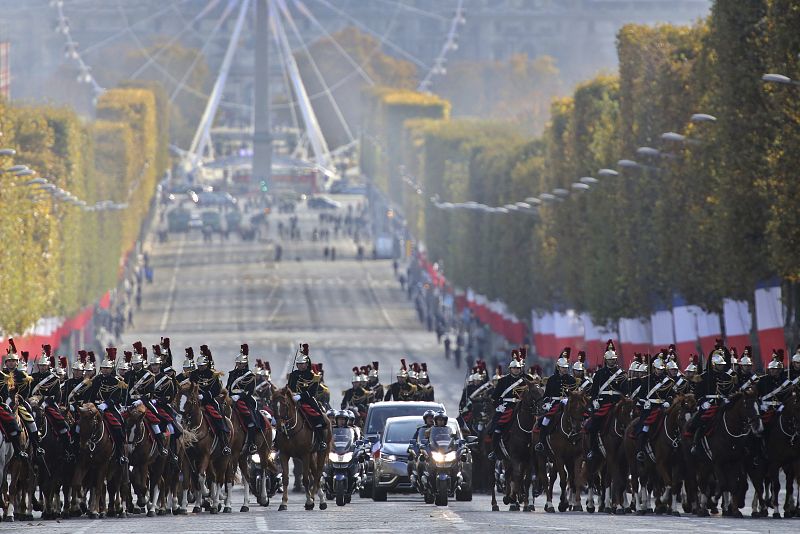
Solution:
<svg viewBox="0 0 800 534"><path fill-rule="evenodd" d="M689 420L687 432L694 434L691 453L702 454L700 439L705 434L706 425L716 417L717 409L725 399L736 392L736 373L728 368L730 352L717 340L717 348L711 353L711 365L701 374L697 397L700 409Z"/></svg>

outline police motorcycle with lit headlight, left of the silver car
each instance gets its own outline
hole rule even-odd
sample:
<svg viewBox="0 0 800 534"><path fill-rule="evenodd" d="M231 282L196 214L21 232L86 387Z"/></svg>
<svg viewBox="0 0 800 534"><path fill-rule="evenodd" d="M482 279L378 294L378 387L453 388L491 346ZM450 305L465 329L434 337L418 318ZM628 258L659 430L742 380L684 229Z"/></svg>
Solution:
<svg viewBox="0 0 800 534"><path fill-rule="evenodd" d="M330 498L336 499L336 506L344 506L364 483L363 449L352 427L336 426L331 435L333 440L325 464L325 485Z"/></svg>

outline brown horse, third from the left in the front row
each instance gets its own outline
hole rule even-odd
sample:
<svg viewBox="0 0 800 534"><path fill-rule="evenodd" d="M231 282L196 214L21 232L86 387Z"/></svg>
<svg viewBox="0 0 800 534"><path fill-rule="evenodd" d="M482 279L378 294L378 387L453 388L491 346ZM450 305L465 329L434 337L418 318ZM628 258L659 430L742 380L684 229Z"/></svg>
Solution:
<svg viewBox="0 0 800 534"><path fill-rule="evenodd" d="M115 445L103 414L97 407L87 402L78 409L80 433L80 458L72 475L71 510L80 513L78 500L83 486L90 491L89 517L98 519L105 516L106 490L110 513L125 517L121 498L122 484L127 484L128 470L120 466L115 458Z"/></svg>

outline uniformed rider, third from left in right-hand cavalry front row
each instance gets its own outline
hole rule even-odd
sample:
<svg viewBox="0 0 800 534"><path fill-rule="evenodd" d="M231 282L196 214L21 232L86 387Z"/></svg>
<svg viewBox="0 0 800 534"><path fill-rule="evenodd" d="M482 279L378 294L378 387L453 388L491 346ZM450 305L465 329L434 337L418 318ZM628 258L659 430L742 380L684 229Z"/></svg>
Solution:
<svg viewBox="0 0 800 534"><path fill-rule="evenodd" d="M606 352L603 354L603 367L594 374L592 384L592 414L586 424L589 431L591 447L586 454L587 459L592 459L600 450L598 432L603 427L608 412L628 392L628 378L618 365L617 352L614 342L608 340Z"/></svg>

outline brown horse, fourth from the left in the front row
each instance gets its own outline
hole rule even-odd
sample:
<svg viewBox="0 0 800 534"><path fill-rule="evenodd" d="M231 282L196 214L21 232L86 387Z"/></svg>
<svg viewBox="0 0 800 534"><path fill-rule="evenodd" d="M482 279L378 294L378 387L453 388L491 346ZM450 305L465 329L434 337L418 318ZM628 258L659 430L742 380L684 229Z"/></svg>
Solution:
<svg viewBox="0 0 800 534"><path fill-rule="evenodd" d="M147 407L137 403L128 409L125 433L128 436L128 456L131 465L131 484L136 492L136 506L147 508L147 517L155 517L159 482L164 472L166 458L149 426L157 424ZM167 438L168 439L168 438ZM168 444L168 441L165 440ZM163 510L161 511L163 514ZM161 515L161 514L159 514Z"/></svg>

